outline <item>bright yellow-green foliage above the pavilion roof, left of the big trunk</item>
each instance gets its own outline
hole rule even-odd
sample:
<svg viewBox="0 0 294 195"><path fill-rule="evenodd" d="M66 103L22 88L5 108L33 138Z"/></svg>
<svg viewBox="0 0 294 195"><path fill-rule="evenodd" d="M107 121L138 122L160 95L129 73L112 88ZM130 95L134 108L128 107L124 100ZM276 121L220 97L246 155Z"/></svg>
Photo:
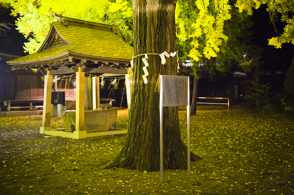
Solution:
<svg viewBox="0 0 294 195"><path fill-rule="evenodd" d="M56 21L53 13L90 22L118 25L126 41L132 42L131 3L123 0L0 0L1 6L11 7L18 16L17 30L28 38L25 51L36 52L44 42L50 25Z"/></svg>

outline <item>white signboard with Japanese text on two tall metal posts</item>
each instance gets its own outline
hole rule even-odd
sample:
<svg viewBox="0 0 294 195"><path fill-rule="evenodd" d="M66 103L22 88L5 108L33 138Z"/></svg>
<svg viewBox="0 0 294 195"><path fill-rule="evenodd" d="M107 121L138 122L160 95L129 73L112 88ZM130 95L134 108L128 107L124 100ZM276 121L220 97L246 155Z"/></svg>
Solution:
<svg viewBox="0 0 294 195"><path fill-rule="evenodd" d="M188 76L160 75L159 77L160 115L160 182L163 182L163 136L162 109L164 106L187 106L188 175L190 175L190 90Z"/></svg>

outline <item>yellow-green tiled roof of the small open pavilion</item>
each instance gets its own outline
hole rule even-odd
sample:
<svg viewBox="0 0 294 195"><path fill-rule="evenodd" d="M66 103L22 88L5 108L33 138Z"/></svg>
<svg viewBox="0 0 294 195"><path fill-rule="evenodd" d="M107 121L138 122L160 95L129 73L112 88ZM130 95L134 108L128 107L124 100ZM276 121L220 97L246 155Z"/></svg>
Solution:
<svg viewBox="0 0 294 195"><path fill-rule="evenodd" d="M117 26L63 17L59 22L52 23L47 38L38 52L8 61L8 64L23 64L24 67L32 63L37 65L68 57L73 52L76 56L86 55L88 60L89 58L97 59L97 61L113 58L130 61L133 56L133 47L116 33L116 28ZM56 32L66 45L49 48Z"/></svg>

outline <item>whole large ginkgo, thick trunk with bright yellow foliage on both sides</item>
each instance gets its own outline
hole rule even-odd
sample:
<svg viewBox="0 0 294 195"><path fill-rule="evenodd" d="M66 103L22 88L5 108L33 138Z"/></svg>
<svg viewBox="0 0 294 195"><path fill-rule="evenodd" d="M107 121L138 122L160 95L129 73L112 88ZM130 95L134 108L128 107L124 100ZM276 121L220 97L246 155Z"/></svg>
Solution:
<svg viewBox="0 0 294 195"><path fill-rule="evenodd" d="M190 39L185 44L191 43L192 48L185 52L195 61L203 57L207 59L218 57L218 53L224 51L222 46L224 47L225 42L230 38L224 32L225 21L232 17L228 0L196 0L193 2L195 9L192 8L189 13L186 9L190 9L191 1L187 0L178 2L133 0L132 3L123 0L1 0L1 2L1 5L12 7L12 14L20 15L16 25L21 33L31 38L25 47L29 52L36 51L38 44L40 45L46 37L49 25L54 20L54 12L77 19L119 25L120 33L130 43L133 42L133 32L134 56L177 51L177 21L179 26L183 26L180 28L183 33L178 34L178 38L182 41ZM179 5L178 8L176 4ZM131 17L131 7L133 7L134 19ZM184 27L190 23L187 23L188 20L181 21L185 11L188 20L191 21L191 29L187 28L186 34ZM110 167L156 171L159 170L159 98L158 93L155 92L156 81L159 73L177 74L176 58L168 59L161 67L158 66L161 63L160 57L151 55L148 59L150 75L146 85L142 80L141 58L134 58L128 134L121 152ZM178 108L165 107L163 117L166 118L163 124L164 169L186 169L187 147L181 139ZM191 160L197 159L200 159L199 156L191 153Z"/></svg>

